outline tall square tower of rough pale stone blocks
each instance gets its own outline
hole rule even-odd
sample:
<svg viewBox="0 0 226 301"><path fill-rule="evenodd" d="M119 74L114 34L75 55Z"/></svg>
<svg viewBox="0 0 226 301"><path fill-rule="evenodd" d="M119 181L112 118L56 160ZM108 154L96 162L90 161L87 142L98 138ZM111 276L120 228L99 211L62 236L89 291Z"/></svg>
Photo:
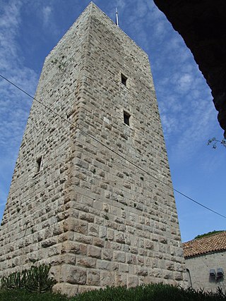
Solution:
<svg viewBox="0 0 226 301"><path fill-rule="evenodd" d="M36 261L69 295L184 285L147 54L91 2L45 59L35 99L1 223L1 276Z"/></svg>

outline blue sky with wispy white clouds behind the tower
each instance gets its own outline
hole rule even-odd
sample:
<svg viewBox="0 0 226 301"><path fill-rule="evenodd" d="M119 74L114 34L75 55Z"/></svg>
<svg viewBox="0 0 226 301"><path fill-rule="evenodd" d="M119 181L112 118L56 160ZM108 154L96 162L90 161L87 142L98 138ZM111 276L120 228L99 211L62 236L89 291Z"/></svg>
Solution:
<svg viewBox="0 0 226 301"><path fill-rule="evenodd" d="M150 58L174 188L226 215L226 149L210 89L182 37L153 0L94 0ZM0 0L0 73L35 94L44 57L78 18L88 0ZM0 79L0 218L32 99ZM225 219L175 192L182 241L225 230Z"/></svg>

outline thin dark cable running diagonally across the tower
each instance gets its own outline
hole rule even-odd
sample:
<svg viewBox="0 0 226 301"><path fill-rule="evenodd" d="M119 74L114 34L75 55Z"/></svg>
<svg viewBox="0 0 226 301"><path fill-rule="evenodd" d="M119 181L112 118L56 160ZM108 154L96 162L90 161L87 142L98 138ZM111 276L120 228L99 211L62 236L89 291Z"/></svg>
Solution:
<svg viewBox="0 0 226 301"><path fill-rule="evenodd" d="M154 178L155 180L159 181L160 183L166 185L167 187L171 188L172 190L174 190L175 192L179 193L179 195L182 195L183 197L186 197L187 199L190 199L192 202L200 205L201 207L215 213L218 214L219 216L222 216L223 218L226 219L226 216L218 213L217 211L214 211L213 209L210 209L208 207L206 207L205 205L201 204L200 202L197 202L195 199L192 199L191 197L185 195L182 192L179 192L179 190L176 190L175 188L170 187L169 185L167 185L165 182L163 182L160 179L155 178L155 176L153 176L152 174L148 173L148 171L145 171L143 168L141 168L141 166L136 165L135 163L133 163L133 161L130 161L129 159L126 159L124 156L122 156L121 154L119 154L118 152L115 152L114 149L112 149L111 147L108 147L107 145L105 145L103 142L101 142L100 140L97 140L95 137L93 137L92 135L90 135L89 133L86 133L84 130L82 130L81 128L79 128L77 125L75 125L74 123L72 123L71 121L69 121L68 119L64 118L63 116L61 116L59 113L57 113L56 111L54 111L53 109L49 108L49 106L47 106L46 104L43 104L40 100L36 99L35 97L32 97L32 95L30 95L28 92L26 92L25 90L23 90L22 88L18 87L18 85L16 85L14 82L11 82L11 80L8 80L7 78L5 78L3 75L1 75L0 73L0 77L3 78L4 80L6 80L7 82L9 82L11 85L13 85L14 87L16 87L18 90L20 90L21 92L23 92L24 94L28 95L28 97L34 99L36 102L38 102L39 104L41 104L42 106L44 106L46 109L48 109L49 111L51 111L52 113L54 113L55 115L59 116L59 118L63 119L64 121L66 121L67 123L69 123L70 125L72 125L74 128L77 128L78 130L81 130L81 133L83 133L84 135L87 135L88 137L92 138L93 140L95 140L97 143L100 143L100 145L106 147L107 149L109 149L111 152L113 152L114 154L117 154L117 156L120 156L122 159L126 160L127 162L129 162L131 165L135 166L136 168L140 169L141 171L143 171L144 173L146 173L148 176Z"/></svg>

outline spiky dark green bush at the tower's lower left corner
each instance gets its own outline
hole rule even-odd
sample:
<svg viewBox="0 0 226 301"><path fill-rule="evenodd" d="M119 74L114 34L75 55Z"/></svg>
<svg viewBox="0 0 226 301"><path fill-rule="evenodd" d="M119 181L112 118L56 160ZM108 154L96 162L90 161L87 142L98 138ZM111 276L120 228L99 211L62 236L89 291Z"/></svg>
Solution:
<svg viewBox="0 0 226 301"><path fill-rule="evenodd" d="M50 291L57 282L49 278L49 269L50 264L41 264L40 266L32 266L29 270L16 271L1 278L1 288L7 290L25 289L38 293Z"/></svg>

